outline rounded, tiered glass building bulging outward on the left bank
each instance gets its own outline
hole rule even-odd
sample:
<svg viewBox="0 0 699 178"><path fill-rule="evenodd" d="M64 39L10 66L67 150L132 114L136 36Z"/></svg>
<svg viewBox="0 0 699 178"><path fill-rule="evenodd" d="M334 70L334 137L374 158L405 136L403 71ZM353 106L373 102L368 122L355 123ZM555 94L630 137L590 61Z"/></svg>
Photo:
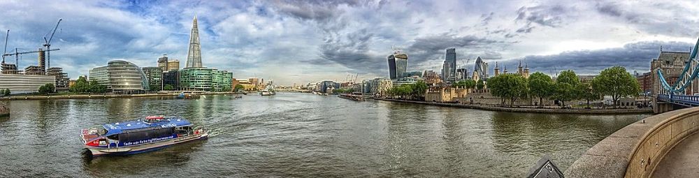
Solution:
<svg viewBox="0 0 699 178"><path fill-rule="evenodd" d="M136 64L129 61L109 61L107 66L89 71L89 80L97 80L115 92L150 90L148 78Z"/></svg>

